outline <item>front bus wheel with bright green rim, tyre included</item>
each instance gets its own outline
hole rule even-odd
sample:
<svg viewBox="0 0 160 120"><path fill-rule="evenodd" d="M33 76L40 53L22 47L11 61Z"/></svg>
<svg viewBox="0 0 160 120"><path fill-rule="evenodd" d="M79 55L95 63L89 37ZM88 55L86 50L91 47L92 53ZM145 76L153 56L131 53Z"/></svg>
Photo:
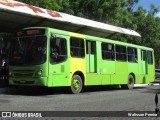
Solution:
<svg viewBox="0 0 160 120"><path fill-rule="evenodd" d="M82 79L79 75L73 75L71 82L71 92L74 94L80 93L82 90Z"/></svg>

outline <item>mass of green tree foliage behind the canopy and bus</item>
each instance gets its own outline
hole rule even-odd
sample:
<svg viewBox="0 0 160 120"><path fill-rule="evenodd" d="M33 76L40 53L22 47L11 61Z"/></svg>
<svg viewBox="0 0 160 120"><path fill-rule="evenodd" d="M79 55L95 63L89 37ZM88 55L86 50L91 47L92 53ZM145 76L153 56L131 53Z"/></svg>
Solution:
<svg viewBox="0 0 160 120"><path fill-rule="evenodd" d="M149 11L143 7L134 11L139 0L17 1L135 30L142 37L115 34L111 39L152 47L155 49L156 63L160 61L160 18L155 17L160 9L153 4Z"/></svg>

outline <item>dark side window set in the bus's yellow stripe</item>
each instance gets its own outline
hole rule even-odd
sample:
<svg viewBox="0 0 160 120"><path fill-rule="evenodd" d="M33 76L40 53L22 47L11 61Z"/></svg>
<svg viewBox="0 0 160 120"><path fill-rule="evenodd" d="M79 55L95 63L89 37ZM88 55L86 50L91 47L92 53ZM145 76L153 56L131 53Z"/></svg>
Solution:
<svg viewBox="0 0 160 120"><path fill-rule="evenodd" d="M84 57L84 40L80 38L71 37L70 51L72 57Z"/></svg>

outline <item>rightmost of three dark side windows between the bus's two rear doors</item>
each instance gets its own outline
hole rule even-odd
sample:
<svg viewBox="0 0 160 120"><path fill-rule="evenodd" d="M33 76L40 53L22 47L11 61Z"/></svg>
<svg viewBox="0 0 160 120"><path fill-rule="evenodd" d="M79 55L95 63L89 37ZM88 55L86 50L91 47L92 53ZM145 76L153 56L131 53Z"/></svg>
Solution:
<svg viewBox="0 0 160 120"><path fill-rule="evenodd" d="M137 62L137 60L138 60L137 59L137 49L128 47L127 52L128 52L128 61L129 62Z"/></svg>

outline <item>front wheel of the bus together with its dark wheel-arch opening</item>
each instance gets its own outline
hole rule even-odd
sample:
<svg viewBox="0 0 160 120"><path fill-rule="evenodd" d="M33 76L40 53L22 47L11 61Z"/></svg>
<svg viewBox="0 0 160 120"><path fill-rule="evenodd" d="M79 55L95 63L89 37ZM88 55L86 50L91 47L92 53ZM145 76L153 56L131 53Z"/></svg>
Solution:
<svg viewBox="0 0 160 120"><path fill-rule="evenodd" d="M84 75L81 71L77 71L73 74L71 79L70 90L73 94L78 94L82 91L84 86Z"/></svg>

